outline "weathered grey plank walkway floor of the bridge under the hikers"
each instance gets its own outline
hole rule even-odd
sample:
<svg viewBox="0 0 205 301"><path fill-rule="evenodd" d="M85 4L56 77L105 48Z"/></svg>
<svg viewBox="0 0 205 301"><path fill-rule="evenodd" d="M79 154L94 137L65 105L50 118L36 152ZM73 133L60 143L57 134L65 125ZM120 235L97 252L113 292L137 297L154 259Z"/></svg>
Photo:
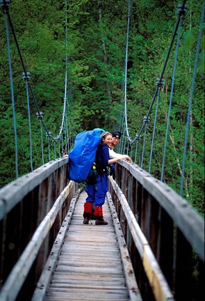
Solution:
<svg viewBox="0 0 205 301"><path fill-rule="evenodd" d="M85 197L82 192L76 202L45 300L131 300L108 201L104 205L108 225L96 226L95 221L84 225ZM140 295L133 300L141 300Z"/></svg>

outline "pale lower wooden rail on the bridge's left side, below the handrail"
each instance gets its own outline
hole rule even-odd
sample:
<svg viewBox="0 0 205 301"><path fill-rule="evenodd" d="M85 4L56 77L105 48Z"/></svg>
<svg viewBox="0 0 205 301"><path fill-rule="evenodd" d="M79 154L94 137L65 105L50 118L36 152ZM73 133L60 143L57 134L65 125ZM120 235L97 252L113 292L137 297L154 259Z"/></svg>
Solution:
<svg viewBox="0 0 205 301"><path fill-rule="evenodd" d="M0 300L15 300L17 294L19 293L20 288L24 284L26 276L31 268L31 265L35 261L38 251L44 241L44 238L49 233L51 226L54 224L58 210L63 205L65 198L69 194L69 191L72 189L73 182L69 182L69 185L65 187L65 190L61 192L60 196L54 203L54 206L51 208L47 216L42 220L38 229L35 231L33 238L28 243L24 252L19 257L19 260L15 264L13 270L10 272L8 279L6 279L5 284L0 292Z"/></svg>

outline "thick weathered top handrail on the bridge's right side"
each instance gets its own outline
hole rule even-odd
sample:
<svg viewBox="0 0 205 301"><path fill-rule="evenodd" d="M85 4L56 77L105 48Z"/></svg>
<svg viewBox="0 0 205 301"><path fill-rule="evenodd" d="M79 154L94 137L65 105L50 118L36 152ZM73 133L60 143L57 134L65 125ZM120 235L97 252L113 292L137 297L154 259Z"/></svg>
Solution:
<svg viewBox="0 0 205 301"><path fill-rule="evenodd" d="M138 180L142 186L154 196L165 211L172 217L183 235L197 250L204 261L204 219L190 204L171 187L156 180L149 173L134 163L121 161L120 164Z"/></svg>

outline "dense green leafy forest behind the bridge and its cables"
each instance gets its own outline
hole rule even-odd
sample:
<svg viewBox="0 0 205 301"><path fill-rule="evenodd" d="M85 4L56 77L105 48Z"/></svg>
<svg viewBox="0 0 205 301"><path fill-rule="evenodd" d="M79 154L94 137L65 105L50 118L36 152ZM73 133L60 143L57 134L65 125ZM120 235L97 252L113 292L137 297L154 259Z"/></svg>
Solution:
<svg viewBox="0 0 205 301"><path fill-rule="evenodd" d="M140 129L161 75L163 62L177 22L179 1L131 1L127 100L129 131ZM174 86L165 182L179 192L183 138L202 1L187 1ZM69 148L78 132L104 128L120 129L124 105L124 63L126 50L127 1L67 1L67 43L65 43L65 1L13 0L10 15L15 27L31 85L51 133L58 133L65 88L65 58L68 68ZM5 16L0 12L0 187L15 179L15 139L11 102ZM204 31L204 28L203 28ZM203 36L204 37L204 36ZM19 176L31 171L28 109L22 66L10 34L10 54L15 88ZM170 100L174 52L163 77L151 173L161 170L163 142ZM42 165L40 122L30 104L33 169ZM151 122L154 121L154 112ZM153 125L147 128L151 137ZM204 214L204 38L199 52L195 93L190 114L188 157L184 197ZM54 134L55 135L55 134ZM48 139L44 134L44 147ZM149 146L150 147L150 144ZM44 153L48 161L48 151ZM54 152L51 152L51 157ZM149 163L145 153L143 168ZM177 171L177 172L176 172Z"/></svg>

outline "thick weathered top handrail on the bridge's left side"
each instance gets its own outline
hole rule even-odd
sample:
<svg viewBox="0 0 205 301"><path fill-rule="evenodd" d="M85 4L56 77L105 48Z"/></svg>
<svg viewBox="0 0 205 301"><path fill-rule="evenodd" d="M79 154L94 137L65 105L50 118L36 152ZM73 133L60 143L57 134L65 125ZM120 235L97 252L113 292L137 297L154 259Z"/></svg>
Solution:
<svg viewBox="0 0 205 301"><path fill-rule="evenodd" d="M24 196L31 192L42 181L48 178L56 169L67 164L68 158L60 158L44 164L31 173L18 178L0 190L0 220L14 208Z"/></svg>

